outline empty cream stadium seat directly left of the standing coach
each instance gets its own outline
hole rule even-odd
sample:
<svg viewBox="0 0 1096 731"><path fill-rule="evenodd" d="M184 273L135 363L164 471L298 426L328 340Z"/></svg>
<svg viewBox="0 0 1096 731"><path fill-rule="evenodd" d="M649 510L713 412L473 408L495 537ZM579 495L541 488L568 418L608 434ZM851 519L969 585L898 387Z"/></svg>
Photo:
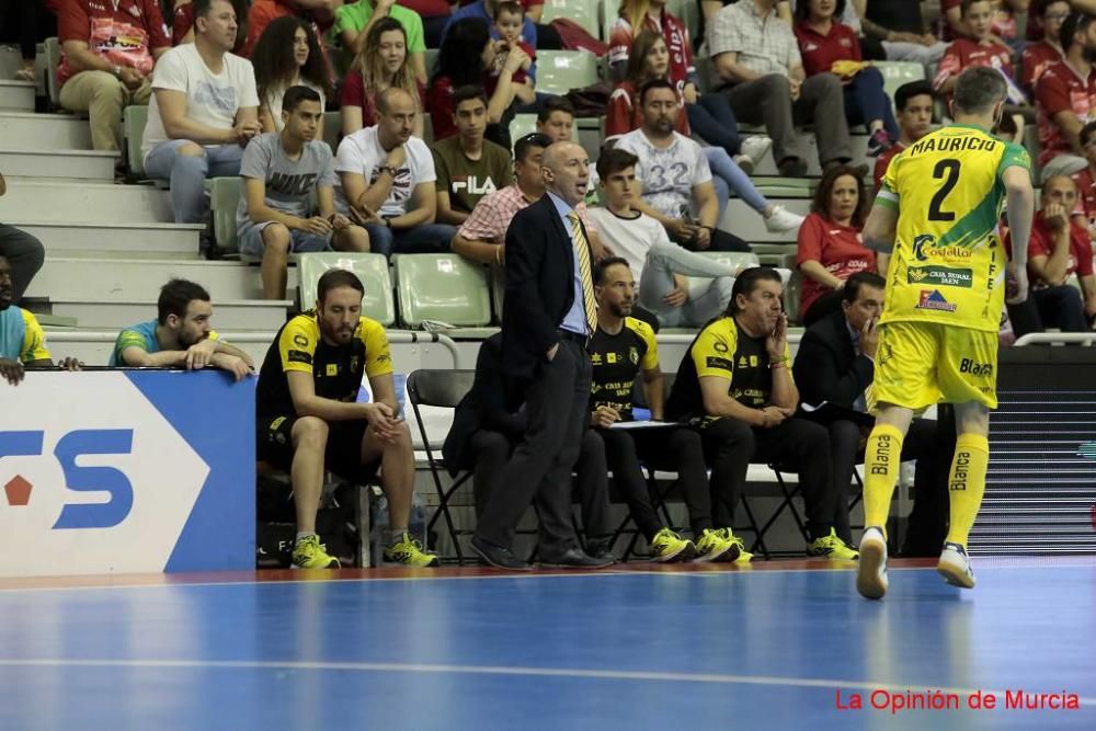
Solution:
<svg viewBox="0 0 1096 731"><path fill-rule="evenodd" d="M480 328L491 322L487 271L458 254L395 254L400 322Z"/></svg>

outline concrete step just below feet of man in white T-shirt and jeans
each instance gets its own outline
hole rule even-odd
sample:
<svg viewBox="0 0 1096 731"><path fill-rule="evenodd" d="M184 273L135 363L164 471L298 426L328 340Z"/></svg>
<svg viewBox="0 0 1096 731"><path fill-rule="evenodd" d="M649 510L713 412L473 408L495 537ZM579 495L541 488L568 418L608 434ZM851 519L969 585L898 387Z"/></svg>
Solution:
<svg viewBox="0 0 1096 731"><path fill-rule="evenodd" d="M126 256L129 259L197 259L199 224L101 224L4 221L36 236L50 255Z"/></svg>

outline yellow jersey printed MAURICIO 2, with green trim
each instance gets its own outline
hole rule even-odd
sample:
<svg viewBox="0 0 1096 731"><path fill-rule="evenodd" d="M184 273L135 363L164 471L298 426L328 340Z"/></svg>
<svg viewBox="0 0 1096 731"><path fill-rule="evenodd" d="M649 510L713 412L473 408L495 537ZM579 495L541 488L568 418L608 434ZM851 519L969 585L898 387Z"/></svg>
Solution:
<svg viewBox="0 0 1096 731"><path fill-rule="evenodd" d="M1007 255L1002 174L1031 169L1027 150L981 127L929 133L890 162L877 206L898 212L880 322L939 322L996 332Z"/></svg>

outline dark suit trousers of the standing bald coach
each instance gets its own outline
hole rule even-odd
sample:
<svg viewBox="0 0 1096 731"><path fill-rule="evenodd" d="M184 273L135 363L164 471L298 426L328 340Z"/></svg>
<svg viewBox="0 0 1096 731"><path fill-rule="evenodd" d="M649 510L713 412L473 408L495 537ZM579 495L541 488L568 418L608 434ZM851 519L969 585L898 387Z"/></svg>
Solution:
<svg viewBox="0 0 1096 731"><path fill-rule="evenodd" d="M562 339L556 357L525 392L526 431L506 461L483 507L476 536L511 548L525 510L537 502L540 555L559 556L578 548L571 519L571 469L579 459L590 414L590 356L578 341Z"/></svg>

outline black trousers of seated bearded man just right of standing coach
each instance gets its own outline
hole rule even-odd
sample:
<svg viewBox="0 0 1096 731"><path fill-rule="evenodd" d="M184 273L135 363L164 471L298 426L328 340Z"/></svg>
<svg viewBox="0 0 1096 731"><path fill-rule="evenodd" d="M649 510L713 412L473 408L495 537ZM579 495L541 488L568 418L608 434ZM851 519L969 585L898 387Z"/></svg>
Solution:
<svg viewBox="0 0 1096 731"><path fill-rule="evenodd" d="M693 535L711 527L711 494L700 435L687 427L591 430L605 443L608 468L640 533L648 539L664 526L654 511L642 465L677 472Z"/></svg>

